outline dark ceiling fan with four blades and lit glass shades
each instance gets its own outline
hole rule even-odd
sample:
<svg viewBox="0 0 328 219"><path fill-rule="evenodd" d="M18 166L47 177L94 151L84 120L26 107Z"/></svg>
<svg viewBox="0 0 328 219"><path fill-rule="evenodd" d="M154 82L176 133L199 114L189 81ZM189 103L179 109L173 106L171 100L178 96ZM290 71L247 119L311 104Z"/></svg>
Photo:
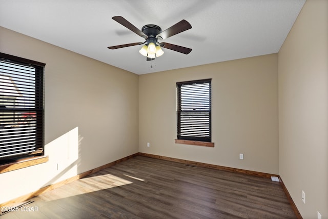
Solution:
<svg viewBox="0 0 328 219"><path fill-rule="evenodd" d="M145 38L146 41L143 43L140 42L140 43L117 45L117 46L109 46L108 47L109 49L119 49L124 47L145 44L144 46L142 46L139 52L140 54L147 57L147 61L152 61L155 59L155 57L161 56L164 53L161 48L171 49L176 52L181 52L183 54L189 54L192 50L187 47L182 47L165 42L161 42L161 43L158 42L163 39L169 38L170 36L173 36L175 34L191 29L191 25L189 24L189 22L187 22L184 19L164 31L162 31L162 29L159 26L153 24L145 25L144 27L141 28L141 30L139 30L133 24L131 24L124 17L121 16L114 16L112 17L112 19L118 22L119 24L125 26L129 30L133 31L134 33L138 34L139 36Z"/></svg>

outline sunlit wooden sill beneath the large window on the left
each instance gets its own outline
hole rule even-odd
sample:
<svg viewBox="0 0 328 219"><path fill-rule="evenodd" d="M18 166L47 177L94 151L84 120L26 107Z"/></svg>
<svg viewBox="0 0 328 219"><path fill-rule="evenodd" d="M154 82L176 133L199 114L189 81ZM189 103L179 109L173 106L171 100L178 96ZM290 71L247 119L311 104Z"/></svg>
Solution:
<svg viewBox="0 0 328 219"><path fill-rule="evenodd" d="M49 161L48 156L34 156L34 157L23 158L13 163L0 165L0 173L5 173L13 170L22 169L25 167L34 166L37 164L46 163L48 161Z"/></svg>

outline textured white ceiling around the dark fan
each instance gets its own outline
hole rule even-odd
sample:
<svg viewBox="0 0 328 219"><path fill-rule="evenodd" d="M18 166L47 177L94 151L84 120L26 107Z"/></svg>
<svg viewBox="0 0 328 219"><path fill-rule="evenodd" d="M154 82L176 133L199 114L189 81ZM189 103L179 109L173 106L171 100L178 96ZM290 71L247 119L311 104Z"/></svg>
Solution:
<svg viewBox="0 0 328 219"><path fill-rule="evenodd" d="M305 0L1 0L0 26L136 74L178 69L279 51ZM165 30L181 19L192 29L163 42L192 48L163 49L155 61L139 54L144 42L115 22ZM0 48L1 50L1 48ZM151 68L152 66L152 68Z"/></svg>

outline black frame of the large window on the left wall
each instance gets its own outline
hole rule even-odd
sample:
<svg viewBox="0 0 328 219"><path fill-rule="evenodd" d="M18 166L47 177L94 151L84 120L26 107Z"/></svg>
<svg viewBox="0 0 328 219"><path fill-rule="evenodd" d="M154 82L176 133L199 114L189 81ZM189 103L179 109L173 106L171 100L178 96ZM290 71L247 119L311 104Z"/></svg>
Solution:
<svg viewBox="0 0 328 219"><path fill-rule="evenodd" d="M22 154L13 153L12 155L0 157L0 165L10 164L10 163L21 161L21 160L26 160L28 158L34 159L35 157L44 156L45 155L45 152L44 152L44 148L45 148L44 72L45 72L46 64L32 61L30 59L26 59L26 58L22 58L22 57L17 57L14 55L9 55L9 54L2 53L2 52L0 52L0 62L11 63L13 66L14 65L27 66L29 68L35 69L35 71L33 73L34 77L33 77L33 81L32 81L32 83L34 83L34 90L33 90L34 95L32 96L32 101L34 103L34 107L12 107L12 108L9 107L8 108L8 107L6 107L8 105L5 104L4 105L5 107L0 108L0 113L2 113L2 115L5 115L5 113L9 113L10 115L11 114L19 115L19 113L22 113L22 112L26 113L26 114L29 114L29 113L34 114L34 119L33 119L32 123L33 123L33 126L35 126L35 131L34 131L35 134L32 135L32 139L34 139L34 141L35 141L35 150L31 151L31 152L27 152L27 153L22 153ZM5 67L3 67L3 70L4 71L2 71L0 73L2 73L3 76L6 76ZM10 74L12 74L12 73L10 73ZM25 74L23 73L23 70L21 70L19 72L19 74L22 75L23 77L25 76ZM22 85L20 85L20 86L22 87ZM6 95L6 86L3 88L4 88L5 95ZM26 92L29 92L29 91L26 91ZM28 94L28 95L30 95L30 94ZM28 97L28 99L30 99L30 98L31 97ZM8 99L8 97L3 96L2 103L5 103L6 99ZM1 99L0 99L0 101L1 101ZM28 101L26 102L24 100L24 102L20 102L20 103L23 104L23 106L25 106L25 104L28 104ZM30 104L30 102L29 102L29 104ZM12 121L14 123L14 121L15 121L14 118L12 119ZM26 123L31 123L31 122L27 121ZM19 125L18 125L18 127L19 127ZM14 131L10 130L10 129L11 129L11 127L9 127L7 130L9 132L15 132L17 134L22 133L22 130L20 130L19 128L17 128L18 130L16 129ZM17 139L18 139L18 141L19 141L19 139L20 139L20 141L22 141L22 137L17 138ZM9 141L9 139L6 140L6 137L2 138L1 140L3 142ZM6 147L4 147L4 149L5 148ZM10 148L10 147L8 146L8 148ZM11 153L11 152L12 151L10 151L9 153Z"/></svg>

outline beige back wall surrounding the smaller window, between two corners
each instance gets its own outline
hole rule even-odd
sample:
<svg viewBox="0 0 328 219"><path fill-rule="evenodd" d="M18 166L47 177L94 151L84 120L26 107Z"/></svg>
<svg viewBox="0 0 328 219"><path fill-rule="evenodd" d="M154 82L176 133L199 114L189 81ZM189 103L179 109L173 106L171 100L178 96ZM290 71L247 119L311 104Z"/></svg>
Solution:
<svg viewBox="0 0 328 219"><path fill-rule="evenodd" d="M271 54L140 75L139 151L278 174L277 61ZM215 147L175 144L176 82L205 78Z"/></svg>

